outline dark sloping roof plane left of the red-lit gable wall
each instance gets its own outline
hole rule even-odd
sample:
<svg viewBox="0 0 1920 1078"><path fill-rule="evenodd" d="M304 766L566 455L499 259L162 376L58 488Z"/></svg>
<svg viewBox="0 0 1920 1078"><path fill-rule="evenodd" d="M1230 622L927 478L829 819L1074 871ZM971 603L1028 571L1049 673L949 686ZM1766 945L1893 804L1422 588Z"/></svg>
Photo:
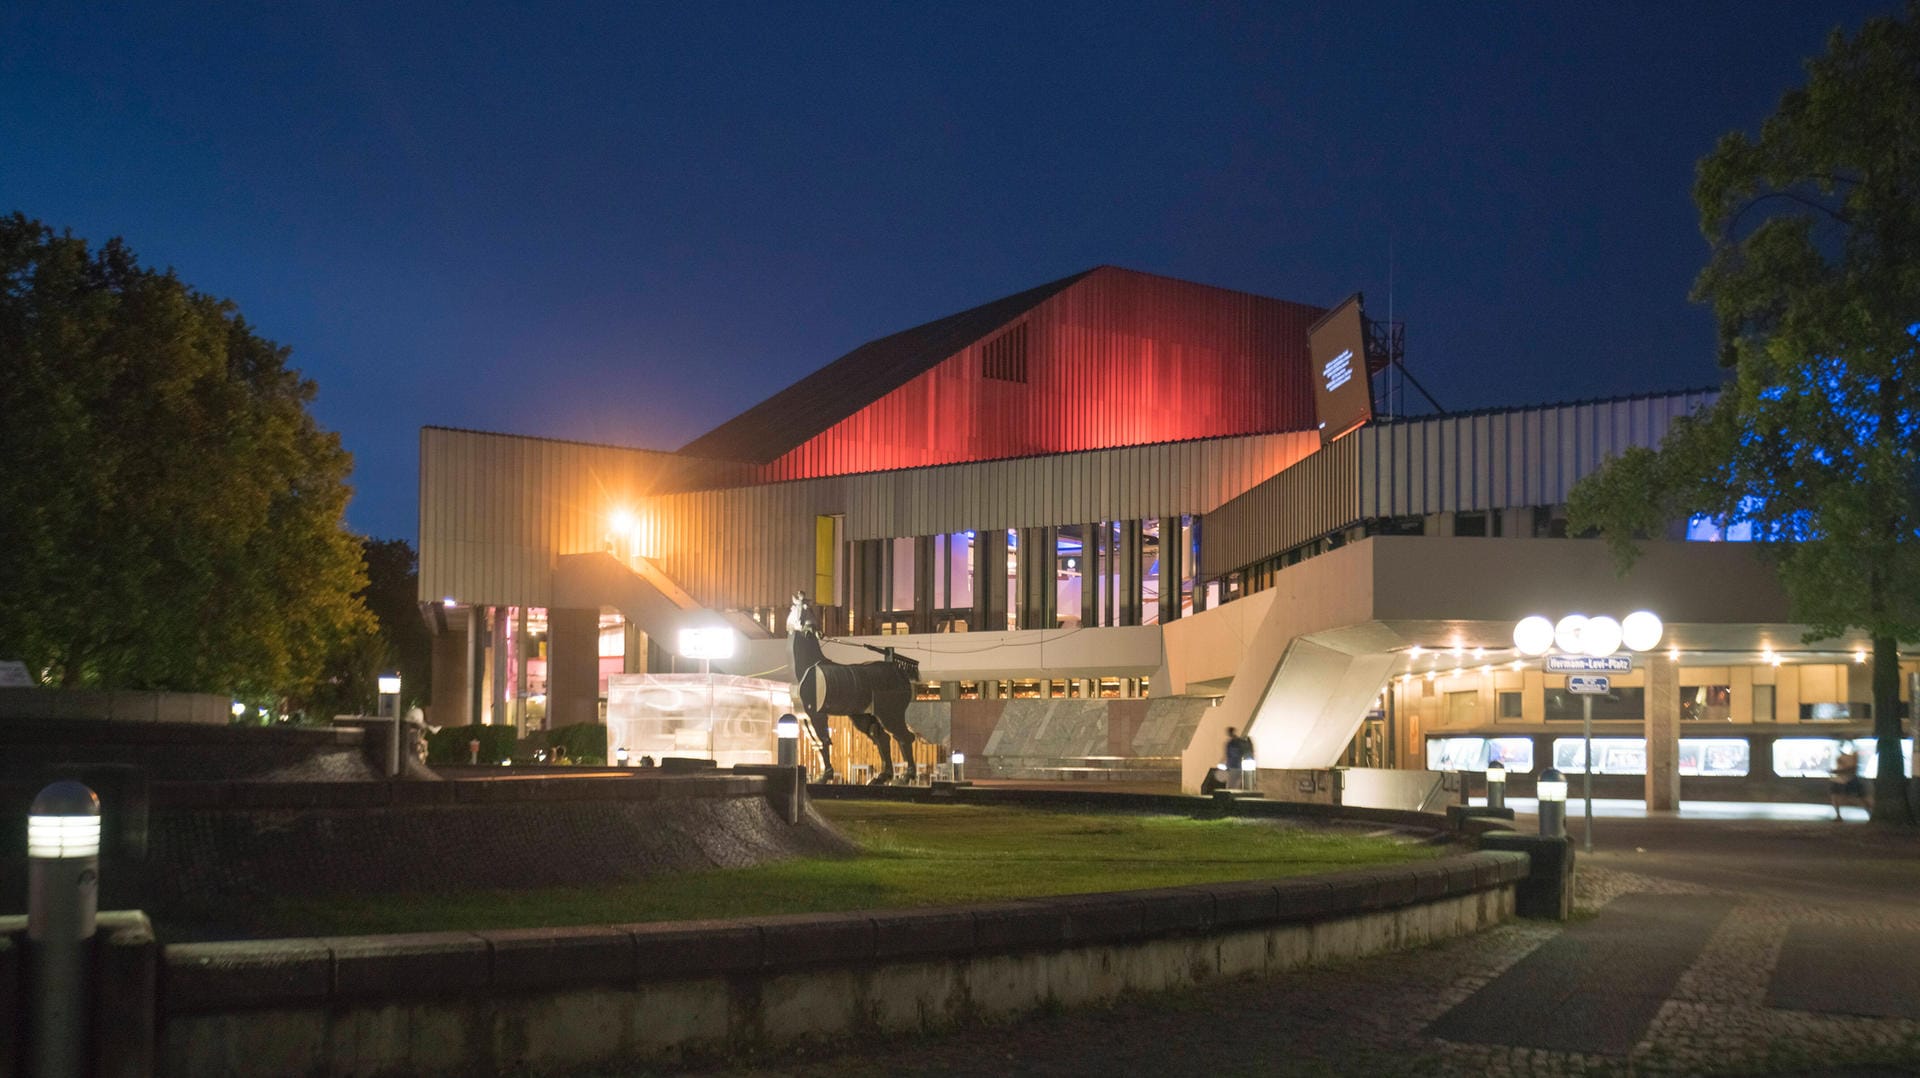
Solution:
<svg viewBox="0 0 1920 1078"><path fill-rule="evenodd" d="M870 340L680 448L728 461L772 463L841 419L931 371L948 355L1079 282L1048 281L956 315Z"/></svg>

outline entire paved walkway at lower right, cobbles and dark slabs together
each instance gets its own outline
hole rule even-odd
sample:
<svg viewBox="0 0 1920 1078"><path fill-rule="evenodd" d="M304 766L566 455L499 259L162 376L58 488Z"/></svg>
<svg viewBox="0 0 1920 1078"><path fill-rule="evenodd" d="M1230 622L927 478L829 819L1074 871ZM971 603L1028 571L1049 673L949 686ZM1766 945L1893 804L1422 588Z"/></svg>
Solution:
<svg viewBox="0 0 1920 1078"><path fill-rule="evenodd" d="M1920 1074L1920 838L1672 817L1596 838L1565 926L722 1074Z"/></svg>

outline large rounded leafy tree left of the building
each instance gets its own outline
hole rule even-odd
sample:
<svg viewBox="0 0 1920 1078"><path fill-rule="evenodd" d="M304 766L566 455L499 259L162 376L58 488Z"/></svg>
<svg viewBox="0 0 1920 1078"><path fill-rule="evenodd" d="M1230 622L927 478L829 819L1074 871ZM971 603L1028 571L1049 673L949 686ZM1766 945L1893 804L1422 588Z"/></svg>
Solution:
<svg viewBox="0 0 1920 1078"><path fill-rule="evenodd" d="M371 626L351 457L234 306L0 217L0 657L50 684L311 690Z"/></svg>

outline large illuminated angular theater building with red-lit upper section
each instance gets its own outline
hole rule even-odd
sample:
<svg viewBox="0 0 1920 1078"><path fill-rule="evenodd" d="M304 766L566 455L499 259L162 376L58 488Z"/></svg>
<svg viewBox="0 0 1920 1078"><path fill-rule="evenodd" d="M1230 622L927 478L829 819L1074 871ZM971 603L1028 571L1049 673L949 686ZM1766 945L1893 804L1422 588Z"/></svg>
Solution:
<svg viewBox="0 0 1920 1078"><path fill-rule="evenodd" d="M699 669L685 626L739 634L712 669L785 680L804 590L829 655L918 659L910 721L970 776L1194 790L1227 726L1263 774L1578 771L1580 705L1513 626L1651 609L1659 648L1596 698L1596 776L1653 805L1814 790L1870 728L1866 640L1803 644L1711 521L1626 576L1567 536L1580 477L1713 394L1390 417L1394 352L1357 296L1096 267L862 344L674 452L428 427L432 721L599 721L614 674Z"/></svg>

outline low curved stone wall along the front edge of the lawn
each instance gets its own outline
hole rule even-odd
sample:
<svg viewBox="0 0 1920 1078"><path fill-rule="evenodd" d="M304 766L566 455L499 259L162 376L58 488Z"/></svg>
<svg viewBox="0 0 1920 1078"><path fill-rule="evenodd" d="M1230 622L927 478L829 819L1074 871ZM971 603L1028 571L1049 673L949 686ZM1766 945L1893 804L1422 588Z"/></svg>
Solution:
<svg viewBox="0 0 1920 1078"><path fill-rule="evenodd" d="M1509 917L1526 870L1482 851L975 907L177 943L159 1072L541 1072L950 1028L1461 936Z"/></svg>

